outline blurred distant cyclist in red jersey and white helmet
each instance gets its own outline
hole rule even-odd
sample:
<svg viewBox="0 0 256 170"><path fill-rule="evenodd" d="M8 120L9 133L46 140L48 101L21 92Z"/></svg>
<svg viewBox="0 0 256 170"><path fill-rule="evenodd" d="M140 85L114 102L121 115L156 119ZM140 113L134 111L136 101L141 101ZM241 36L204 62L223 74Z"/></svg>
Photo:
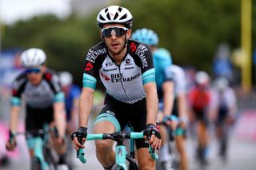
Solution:
<svg viewBox="0 0 256 170"><path fill-rule="evenodd" d="M210 77L204 71L195 74L195 83L189 93L190 112L193 114L198 135L198 159L201 164L207 164L206 152L209 143L207 132L208 113L210 107Z"/></svg>

